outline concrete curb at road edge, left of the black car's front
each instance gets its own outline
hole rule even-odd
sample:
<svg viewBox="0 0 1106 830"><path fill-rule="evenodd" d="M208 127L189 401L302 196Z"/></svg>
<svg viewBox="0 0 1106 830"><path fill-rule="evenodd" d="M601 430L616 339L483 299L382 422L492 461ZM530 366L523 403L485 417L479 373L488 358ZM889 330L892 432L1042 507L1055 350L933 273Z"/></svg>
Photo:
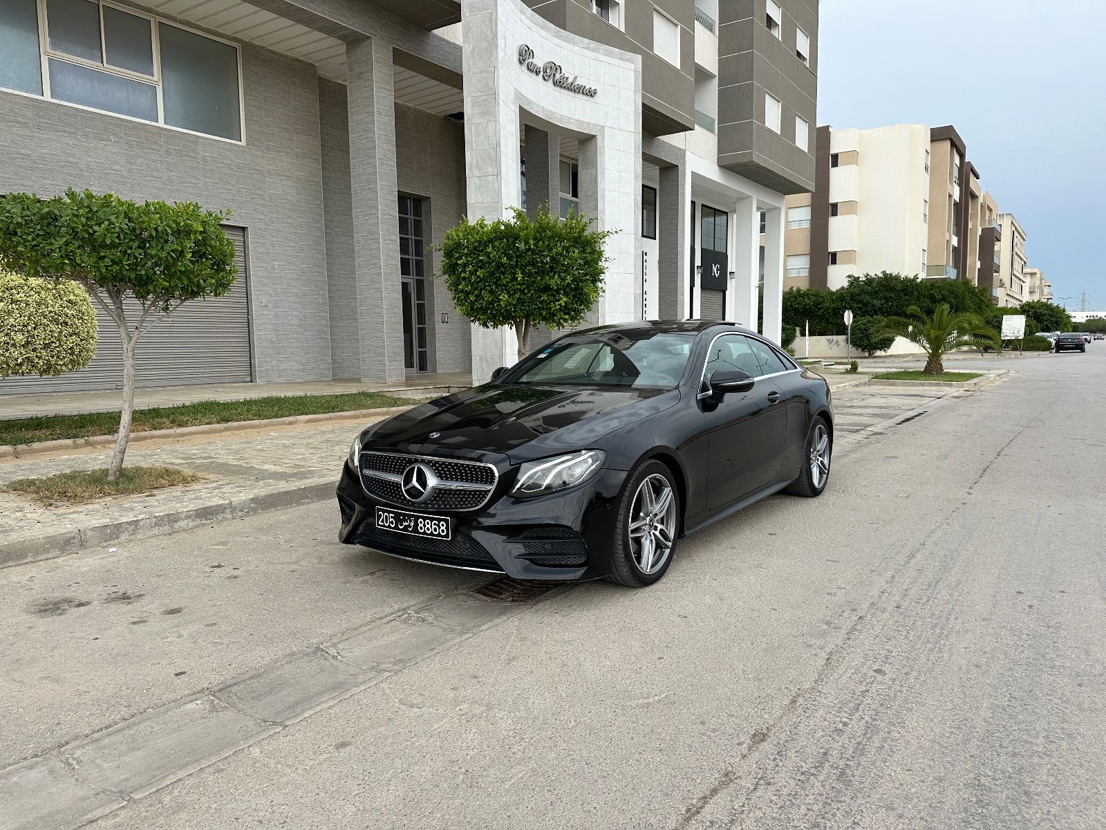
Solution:
<svg viewBox="0 0 1106 830"><path fill-rule="evenodd" d="M334 496L336 486L335 481L315 481L291 489L222 499L157 516L144 516L115 522L92 521L86 525L63 525L64 529L44 536L0 542L0 569L30 562L42 562L115 542L187 530L209 521L238 519L268 510L280 510L312 501L323 501Z"/></svg>

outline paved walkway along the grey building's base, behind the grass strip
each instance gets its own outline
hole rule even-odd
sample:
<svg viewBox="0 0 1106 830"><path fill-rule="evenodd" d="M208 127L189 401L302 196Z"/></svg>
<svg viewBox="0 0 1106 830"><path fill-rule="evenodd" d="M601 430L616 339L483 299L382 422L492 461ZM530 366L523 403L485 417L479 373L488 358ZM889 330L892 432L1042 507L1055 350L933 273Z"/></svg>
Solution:
<svg viewBox="0 0 1106 830"><path fill-rule="evenodd" d="M408 375L398 383L364 381L304 381L301 383L209 383L189 386L152 386L135 391L135 408L175 406L198 401L246 401L269 395L334 395L343 392L413 392L441 394L468 388L468 373ZM58 392L35 395L0 395L0 418L30 418L42 415L77 415L86 412L117 412L119 390Z"/></svg>

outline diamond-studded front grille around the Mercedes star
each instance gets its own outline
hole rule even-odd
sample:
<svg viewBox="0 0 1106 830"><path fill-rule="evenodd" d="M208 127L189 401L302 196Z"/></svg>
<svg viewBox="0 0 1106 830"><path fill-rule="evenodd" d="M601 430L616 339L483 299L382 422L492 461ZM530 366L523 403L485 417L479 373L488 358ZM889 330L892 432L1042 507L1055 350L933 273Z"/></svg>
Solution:
<svg viewBox="0 0 1106 830"><path fill-rule="evenodd" d="M410 465L421 461L440 481L452 486L436 489L424 501L411 501L403 491L400 477ZM462 461L399 453L362 453L358 458L365 491L384 501L419 510L474 510L491 498L499 473L482 461ZM471 488L471 489L470 489Z"/></svg>

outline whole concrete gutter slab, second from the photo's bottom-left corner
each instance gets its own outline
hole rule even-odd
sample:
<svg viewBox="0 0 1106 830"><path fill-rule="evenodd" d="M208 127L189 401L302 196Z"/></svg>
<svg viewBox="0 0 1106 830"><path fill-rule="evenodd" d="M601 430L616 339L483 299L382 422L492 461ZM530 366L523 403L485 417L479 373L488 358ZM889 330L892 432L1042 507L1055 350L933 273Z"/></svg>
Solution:
<svg viewBox="0 0 1106 830"><path fill-rule="evenodd" d="M200 695L71 744L62 753L81 779L140 798L276 728Z"/></svg>

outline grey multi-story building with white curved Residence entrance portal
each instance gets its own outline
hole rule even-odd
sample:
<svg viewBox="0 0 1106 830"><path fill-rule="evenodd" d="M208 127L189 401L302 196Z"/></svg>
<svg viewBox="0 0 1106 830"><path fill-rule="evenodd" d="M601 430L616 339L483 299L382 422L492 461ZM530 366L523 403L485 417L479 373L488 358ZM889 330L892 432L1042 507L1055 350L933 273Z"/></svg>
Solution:
<svg viewBox="0 0 1106 830"><path fill-rule="evenodd" d="M474 380L434 243L549 203L608 240L593 322L779 338L784 197L814 187L817 0L3 0L0 193L230 210L240 279L139 349L144 385ZM764 253L761 256L761 226ZM0 394L118 384L93 365Z"/></svg>

